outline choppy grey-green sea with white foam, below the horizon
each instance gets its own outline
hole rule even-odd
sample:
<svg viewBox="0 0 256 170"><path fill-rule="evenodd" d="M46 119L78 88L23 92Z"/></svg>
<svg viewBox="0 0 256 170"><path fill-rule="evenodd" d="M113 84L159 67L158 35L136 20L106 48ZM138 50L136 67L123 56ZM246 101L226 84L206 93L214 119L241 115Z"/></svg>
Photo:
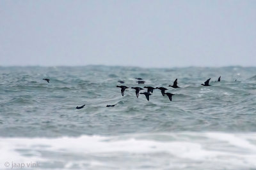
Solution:
<svg viewBox="0 0 256 170"><path fill-rule="evenodd" d="M0 169L256 169L255 106L256 67L2 66Z"/></svg>

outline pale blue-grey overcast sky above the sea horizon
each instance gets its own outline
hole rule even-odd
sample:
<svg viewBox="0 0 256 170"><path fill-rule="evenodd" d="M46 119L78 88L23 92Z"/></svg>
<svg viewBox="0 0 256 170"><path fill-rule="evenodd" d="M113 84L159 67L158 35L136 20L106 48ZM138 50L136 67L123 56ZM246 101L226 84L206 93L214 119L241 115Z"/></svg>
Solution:
<svg viewBox="0 0 256 170"><path fill-rule="evenodd" d="M0 0L0 66L256 66L256 1Z"/></svg>

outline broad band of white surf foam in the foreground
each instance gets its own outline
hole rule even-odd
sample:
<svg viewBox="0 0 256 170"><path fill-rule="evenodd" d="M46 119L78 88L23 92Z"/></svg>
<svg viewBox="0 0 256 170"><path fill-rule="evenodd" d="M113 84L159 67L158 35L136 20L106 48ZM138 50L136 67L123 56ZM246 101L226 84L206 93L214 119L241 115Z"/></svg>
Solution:
<svg viewBox="0 0 256 170"><path fill-rule="evenodd" d="M250 169L255 144L255 133L222 132L0 138L0 168L40 162L40 169Z"/></svg>

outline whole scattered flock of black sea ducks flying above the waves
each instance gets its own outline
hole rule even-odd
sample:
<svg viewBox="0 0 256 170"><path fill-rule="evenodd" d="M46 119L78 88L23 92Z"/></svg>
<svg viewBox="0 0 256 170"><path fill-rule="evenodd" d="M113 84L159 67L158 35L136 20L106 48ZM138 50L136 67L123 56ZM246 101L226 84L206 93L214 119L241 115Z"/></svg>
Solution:
<svg viewBox="0 0 256 170"><path fill-rule="evenodd" d="M220 78L221 78L221 76L218 78L218 81L220 81ZM138 80L138 81L136 81L136 83L138 83L138 84L144 84L145 83L145 81L143 81L142 78L136 78L136 79ZM48 83L50 81L48 78L44 78L43 80L47 81ZM211 86L211 85L209 85L210 80L211 80L211 78L206 80L204 82L204 84L201 84L201 85ZM124 81L118 81L118 83L122 83L123 84L125 82ZM126 87L125 85L116 85L116 87L121 88L122 96L124 96L125 89L129 89L129 87ZM173 85L169 85L169 87L173 87L175 89L180 88L178 86L178 79L176 78L176 80L173 82ZM147 89L147 92L140 93L140 90L143 90L143 88ZM149 101L149 96L152 95L154 89L161 90L162 95L164 96L166 94L170 101L172 101L172 96L175 95L175 94L172 94L172 93L166 93L165 90L168 90L168 89L166 89L164 87L156 87L156 88L154 88L154 87L150 87L150 86L145 86L143 88L141 88L141 87L131 87L131 89L135 90L135 94L136 94L137 98L139 97L139 94L144 94L148 101ZM78 109L78 110L82 109L82 108L84 108L84 106L85 106L85 104L83 106L77 106L76 109ZM107 105L106 107L114 107L114 106L116 106L116 104Z"/></svg>

